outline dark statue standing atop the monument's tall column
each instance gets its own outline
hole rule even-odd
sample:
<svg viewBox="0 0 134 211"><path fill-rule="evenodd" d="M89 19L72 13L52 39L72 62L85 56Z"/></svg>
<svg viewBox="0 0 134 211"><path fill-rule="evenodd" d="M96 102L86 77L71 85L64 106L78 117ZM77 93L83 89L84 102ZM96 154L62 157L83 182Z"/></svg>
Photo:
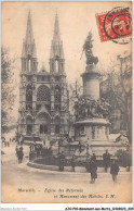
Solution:
<svg viewBox="0 0 134 211"><path fill-rule="evenodd" d="M93 48L93 39L92 39L92 33L90 32L85 42L83 45L83 51L85 51L86 57L86 64L97 64L98 58L93 55L92 48ZM83 53L83 52L82 52Z"/></svg>

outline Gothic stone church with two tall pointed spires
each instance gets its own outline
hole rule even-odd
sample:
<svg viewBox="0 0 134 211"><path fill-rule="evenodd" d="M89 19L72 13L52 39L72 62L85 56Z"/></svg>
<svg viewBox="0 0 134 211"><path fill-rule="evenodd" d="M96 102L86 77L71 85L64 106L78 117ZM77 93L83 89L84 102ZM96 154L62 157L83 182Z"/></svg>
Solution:
<svg viewBox="0 0 134 211"><path fill-rule="evenodd" d="M63 42L58 16L50 52L50 71L38 71L30 12L23 41L19 84L18 133L25 137L67 136L69 129L69 91L66 82Z"/></svg>

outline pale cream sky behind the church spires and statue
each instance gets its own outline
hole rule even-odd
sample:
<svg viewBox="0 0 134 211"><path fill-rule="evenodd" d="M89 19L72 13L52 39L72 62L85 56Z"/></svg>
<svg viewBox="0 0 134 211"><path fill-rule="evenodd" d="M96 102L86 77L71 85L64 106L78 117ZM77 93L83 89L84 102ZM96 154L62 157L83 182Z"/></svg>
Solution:
<svg viewBox="0 0 134 211"><path fill-rule="evenodd" d="M81 82L80 75L85 70L85 55L82 59L82 47L90 30L93 34L93 52L98 57L98 70L108 71L111 60L117 54L131 51L132 44L119 45L111 40L102 42L96 15L106 13L115 7L131 7L131 2L2 2L1 40L10 49L11 57L16 57L15 83L16 107L18 107L18 82L23 39L26 36L28 11L30 10L34 38L37 47L39 71L44 63L49 71L51 41L53 38L55 14L58 14L61 38L64 46L65 71L67 82ZM17 116L17 109L13 110Z"/></svg>

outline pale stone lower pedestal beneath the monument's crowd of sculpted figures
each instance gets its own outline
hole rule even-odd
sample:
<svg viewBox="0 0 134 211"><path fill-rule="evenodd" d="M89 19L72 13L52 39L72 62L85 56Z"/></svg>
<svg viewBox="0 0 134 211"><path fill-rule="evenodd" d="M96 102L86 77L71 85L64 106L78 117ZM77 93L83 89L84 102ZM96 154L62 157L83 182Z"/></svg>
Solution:
<svg viewBox="0 0 134 211"><path fill-rule="evenodd" d="M89 147L89 152L102 156L106 149L109 151L109 121L105 119L86 119L75 123L76 140Z"/></svg>

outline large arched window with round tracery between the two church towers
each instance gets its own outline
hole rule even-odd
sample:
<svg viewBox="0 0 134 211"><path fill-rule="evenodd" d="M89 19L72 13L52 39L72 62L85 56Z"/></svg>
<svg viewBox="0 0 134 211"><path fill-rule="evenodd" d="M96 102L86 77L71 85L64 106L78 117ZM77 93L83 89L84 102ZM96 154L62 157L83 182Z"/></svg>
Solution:
<svg viewBox="0 0 134 211"><path fill-rule="evenodd" d="M37 91L37 100L50 102L50 89L46 86L41 85Z"/></svg>

